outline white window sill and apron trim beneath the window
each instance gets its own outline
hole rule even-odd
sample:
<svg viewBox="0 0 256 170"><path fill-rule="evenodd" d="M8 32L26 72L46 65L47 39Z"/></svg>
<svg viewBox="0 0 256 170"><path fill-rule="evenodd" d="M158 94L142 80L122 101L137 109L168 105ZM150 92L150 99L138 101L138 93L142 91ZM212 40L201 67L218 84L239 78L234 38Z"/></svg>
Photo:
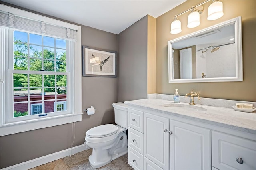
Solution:
<svg viewBox="0 0 256 170"><path fill-rule="evenodd" d="M68 114L0 125L0 136L82 121L82 114Z"/></svg>

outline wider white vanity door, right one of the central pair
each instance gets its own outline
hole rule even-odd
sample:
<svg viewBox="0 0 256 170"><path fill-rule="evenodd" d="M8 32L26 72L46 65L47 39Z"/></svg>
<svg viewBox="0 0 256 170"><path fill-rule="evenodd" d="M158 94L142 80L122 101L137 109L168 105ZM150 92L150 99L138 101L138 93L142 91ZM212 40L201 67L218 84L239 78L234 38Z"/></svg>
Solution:
<svg viewBox="0 0 256 170"><path fill-rule="evenodd" d="M170 120L170 169L210 170L211 130Z"/></svg>

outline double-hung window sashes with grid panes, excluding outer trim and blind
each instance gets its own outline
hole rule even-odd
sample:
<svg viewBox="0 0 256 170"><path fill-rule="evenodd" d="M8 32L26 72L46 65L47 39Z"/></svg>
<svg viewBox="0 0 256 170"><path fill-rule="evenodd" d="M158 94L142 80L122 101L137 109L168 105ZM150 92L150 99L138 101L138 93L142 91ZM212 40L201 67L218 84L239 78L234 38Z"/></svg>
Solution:
<svg viewBox="0 0 256 170"><path fill-rule="evenodd" d="M63 107L55 104L70 102L68 48L68 40L13 31L13 55L9 57L13 64L8 70L8 87L13 87L8 96L12 98L9 122L70 113L69 105L64 108L63 102ZM44 107L39 109L35 103Z"/></svg>

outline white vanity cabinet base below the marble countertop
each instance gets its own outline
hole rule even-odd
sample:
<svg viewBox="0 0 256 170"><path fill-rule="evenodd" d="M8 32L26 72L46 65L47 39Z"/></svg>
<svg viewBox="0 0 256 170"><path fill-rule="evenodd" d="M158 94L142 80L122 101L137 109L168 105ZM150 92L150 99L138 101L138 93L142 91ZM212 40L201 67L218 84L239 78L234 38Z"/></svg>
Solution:
<svg viewBox="0 0 256 170"><path fill-rule="evenodd" d="M135 170L256 170L256 134L150 109L128 109Z"/></svg>

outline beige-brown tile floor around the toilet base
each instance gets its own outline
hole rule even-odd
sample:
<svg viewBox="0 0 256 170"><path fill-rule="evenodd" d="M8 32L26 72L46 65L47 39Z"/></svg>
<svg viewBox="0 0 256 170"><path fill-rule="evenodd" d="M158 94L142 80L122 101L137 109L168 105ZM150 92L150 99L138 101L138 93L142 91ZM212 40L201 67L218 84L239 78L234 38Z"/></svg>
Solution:
<svg viewBox="0 0 256 170"><path fill-rule="evenodd" d="M84 150L74 156L67 156L30 170L95 170L88 160L90 154L92 154L92 149ZM133 168L128 164L128 154L126 154L96 170L133 170Z"/></svg>

